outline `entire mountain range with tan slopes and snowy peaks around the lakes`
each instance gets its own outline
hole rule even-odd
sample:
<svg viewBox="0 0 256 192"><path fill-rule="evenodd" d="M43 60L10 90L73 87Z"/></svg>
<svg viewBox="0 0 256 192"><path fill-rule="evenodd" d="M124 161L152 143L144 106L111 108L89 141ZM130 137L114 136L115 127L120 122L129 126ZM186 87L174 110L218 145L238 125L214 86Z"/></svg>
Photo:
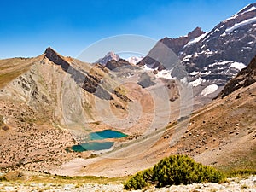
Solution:
<svg viewBox="0 0 256 192"><path fill-rule="evenodd" d="M115 177L170 154L220 169L255 168L255 25L253 3L210 32L196 27L160 39L156 45L177 55L172 68L151 58L157 46L127 61L109 52L90 64L50 47L0 60L1 170ZM106 140L113 156L72 150L109 129L128 135Z"/></svg>

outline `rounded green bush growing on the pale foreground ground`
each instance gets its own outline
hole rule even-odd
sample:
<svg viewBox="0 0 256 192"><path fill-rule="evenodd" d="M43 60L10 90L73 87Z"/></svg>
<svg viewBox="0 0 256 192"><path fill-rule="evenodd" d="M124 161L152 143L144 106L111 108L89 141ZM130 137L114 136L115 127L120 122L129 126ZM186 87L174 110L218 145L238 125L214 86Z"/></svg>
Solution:
<svg viewBox="0 0 256 192"><path fill-rule="evenodd" d="M131 177L125 189L143 189L150 184L157 187L224 180L224 174L211 166L203 166L187 155L172 155L160 160L153 169L148 169Z"/></svg>

